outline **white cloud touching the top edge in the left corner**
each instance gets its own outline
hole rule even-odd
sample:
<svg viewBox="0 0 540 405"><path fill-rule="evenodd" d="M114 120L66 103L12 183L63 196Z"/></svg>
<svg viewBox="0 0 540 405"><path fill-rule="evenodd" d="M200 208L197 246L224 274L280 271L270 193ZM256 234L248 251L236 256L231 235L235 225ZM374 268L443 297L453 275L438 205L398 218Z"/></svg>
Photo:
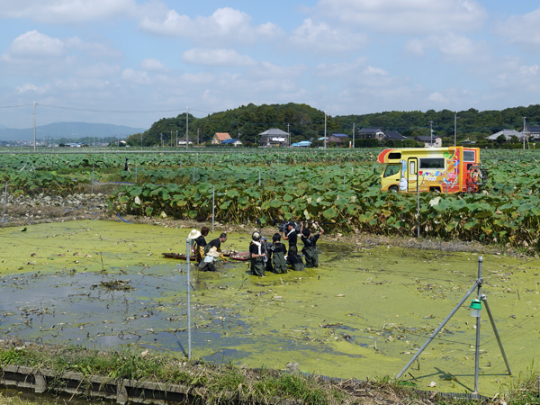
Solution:
<svg viewBox="0 0 540 405"><path fill-rule="evenodd" d="M4 0L0 2L0 18L74 24L134 15L137 9L135 0Z"/></svg>

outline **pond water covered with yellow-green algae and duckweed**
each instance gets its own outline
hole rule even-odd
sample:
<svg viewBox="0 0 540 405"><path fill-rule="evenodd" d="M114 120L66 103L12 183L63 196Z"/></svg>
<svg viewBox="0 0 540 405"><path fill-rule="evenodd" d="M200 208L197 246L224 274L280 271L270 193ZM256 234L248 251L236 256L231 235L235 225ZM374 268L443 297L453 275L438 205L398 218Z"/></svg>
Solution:
<svg viewBox="0 0 540 405"><path fill-rule="evenodd" d="M161 253L184 251L189 230L91 220L1 229L0 332L185 352L185 262ZM225 247L246 250L248 240L230 235ZM295 362L343 378L395 375L478 271L478 255L467 253L320 249L320 268L305 272L257 278L245 263L230 262L216 274L192 271L193 356L278 369ZM535 259L483 257L482 292L515 375L538 360L539 273ZM125 289L104 285L114 282ZM439 391L473 391L469 302L404 375L419 388L435 382ZM480 390L491 394L512 379L485 311L481 354Z"/></svg>

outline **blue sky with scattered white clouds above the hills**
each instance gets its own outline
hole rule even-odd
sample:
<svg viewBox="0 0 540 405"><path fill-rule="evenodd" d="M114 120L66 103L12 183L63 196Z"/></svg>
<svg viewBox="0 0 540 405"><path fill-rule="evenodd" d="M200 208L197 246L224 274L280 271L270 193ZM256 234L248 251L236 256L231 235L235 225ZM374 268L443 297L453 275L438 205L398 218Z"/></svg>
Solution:
<svg viewBox="0 0 540 405"><path fill-rule="evenodd" d="M529 105L539 27L528 0L0 0L0 125Z"/></svg>

